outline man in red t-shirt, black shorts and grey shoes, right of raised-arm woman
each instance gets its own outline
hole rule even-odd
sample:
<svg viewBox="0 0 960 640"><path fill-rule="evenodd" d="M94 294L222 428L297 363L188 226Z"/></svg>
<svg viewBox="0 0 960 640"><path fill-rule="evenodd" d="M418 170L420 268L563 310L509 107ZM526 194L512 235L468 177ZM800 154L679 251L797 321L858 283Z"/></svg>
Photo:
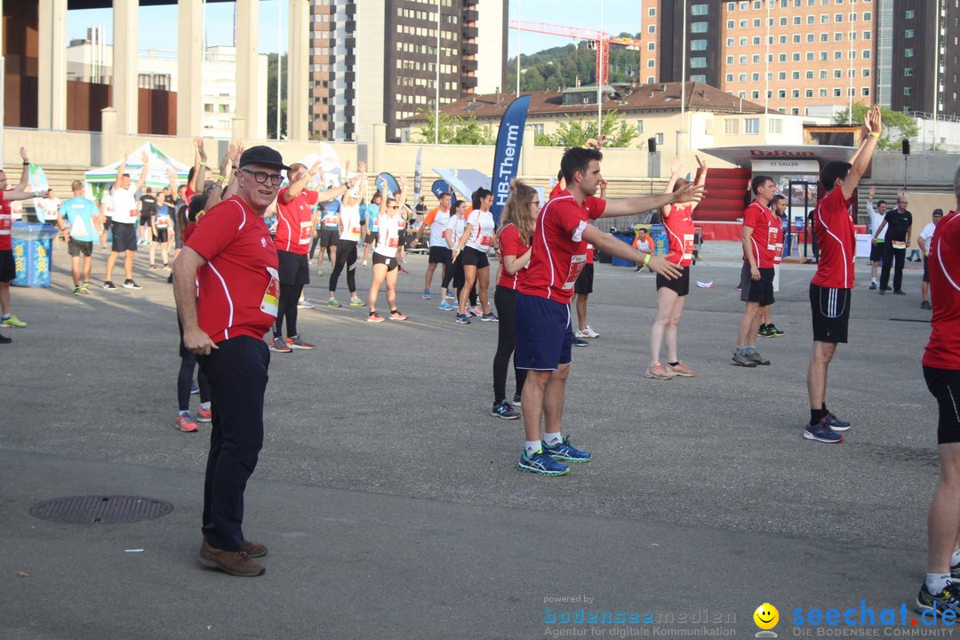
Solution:
<svg viewBox="0 0 960 640"><path fill-rule="evenodd" d="M755 176L750 188L754 201L743 211L743 268L740 270L740 299L746 302L732 361L737 367L769 365L756 351L756 335L763 319L763 307L774 303L774 263L777 246L783 244L780 218L770 209L777 185L769 176Z"/></svg>

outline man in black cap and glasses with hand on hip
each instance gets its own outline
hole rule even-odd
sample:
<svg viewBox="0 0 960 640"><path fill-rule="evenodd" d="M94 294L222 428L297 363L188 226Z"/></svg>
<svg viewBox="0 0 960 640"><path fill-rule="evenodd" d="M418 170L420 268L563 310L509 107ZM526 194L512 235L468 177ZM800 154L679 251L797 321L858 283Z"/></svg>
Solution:
<svg viewBox="0 0 960 640"><path fill-rule="evenodd" d="M183 345L210 385L212 431L204 481L200 561L231 576L259 576L266 546L244 538L243 494L263 446L263 394L276 320L276 248L263 214L287 169L269 147L252 147L234 173L236 195L210 208L174 262Z"/></svg>

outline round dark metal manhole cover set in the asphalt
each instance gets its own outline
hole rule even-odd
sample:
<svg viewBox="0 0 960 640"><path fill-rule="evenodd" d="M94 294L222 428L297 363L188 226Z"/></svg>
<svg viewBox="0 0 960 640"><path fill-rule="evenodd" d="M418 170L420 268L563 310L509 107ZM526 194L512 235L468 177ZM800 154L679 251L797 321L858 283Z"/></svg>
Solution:
<svg viewBox="0 0 960 640"><path fill-rule="evenodd" d="M51 522L86 525L153 520L172 510L170 503L135 495L75 495L41 502L30 514Z"/></svg>

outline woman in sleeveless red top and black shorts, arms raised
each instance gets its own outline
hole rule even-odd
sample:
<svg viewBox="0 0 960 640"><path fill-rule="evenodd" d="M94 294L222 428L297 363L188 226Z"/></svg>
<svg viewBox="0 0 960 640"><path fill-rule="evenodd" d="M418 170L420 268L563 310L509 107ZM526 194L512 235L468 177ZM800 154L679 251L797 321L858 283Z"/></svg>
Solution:
<svg viewBox="0 0 960 640"><path fill-rule="evenodd" d="M700 175L697 184L707 180L707 164L697 157ZM680 158L673 158L670 164L671 176L665 193L684 188L687 180L680 177L683 165ZM676 280L657 276L657 320L650 329L650 366L644 377L656 380L670 380L674 376L692 378L695 373L677 355L677 325L684 312L684 302L690 292L690 265L693 262L693 209L696 202L681 202L664 206L663 225L669 242L667 259L680 267L683 274ZM660 364L660 349L666 343L666 367Z"/></svg>

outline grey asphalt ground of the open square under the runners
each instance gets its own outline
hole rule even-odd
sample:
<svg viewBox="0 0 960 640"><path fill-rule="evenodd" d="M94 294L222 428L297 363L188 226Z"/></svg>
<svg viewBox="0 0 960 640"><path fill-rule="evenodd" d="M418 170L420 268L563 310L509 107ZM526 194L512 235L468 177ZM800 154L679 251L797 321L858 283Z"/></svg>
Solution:
<svg viewBox="0 0 960 640"><path fill-rule="evenodd" d="M197 562L208 426L173 428L166 272L148 272L141 250L144 289L107 292L105 262L98 251L92 295L73 296L59 246L50 289L12 291L30 326L0 330L13 338L0 346L0 638L747 636L764 602L782 637L818 631L793 625L795 609L861 601L877 616L905 603L908 628L884 630L917 629L938 465L920 365L929 312L910 263L909 295L881 297L860 261L851 343L828 384L828 406L853 422L839 445L802 438L811 267L781 270L786 334L758 340L772 366L732 367L738 251L708 243L692 280L713 288L692 289L680 325L697 376L662 382L641 377L654 276L597 265L588 314L601 337L575 348L564 411L564 433L594 459L544 478L516 470L521 423L490 415L496 324L438 310L439 274L420 299L426 258L410 256L398 287L410 320L301 310L317 349L272 354L245 521L270 547L268 572L236 579ZM370 273L358 267L365 299ZM323 302L326 276L311 279ZM29 514L86 494L174 510L113 525ZM548 624L579 607L628 615Z"/></svg>

